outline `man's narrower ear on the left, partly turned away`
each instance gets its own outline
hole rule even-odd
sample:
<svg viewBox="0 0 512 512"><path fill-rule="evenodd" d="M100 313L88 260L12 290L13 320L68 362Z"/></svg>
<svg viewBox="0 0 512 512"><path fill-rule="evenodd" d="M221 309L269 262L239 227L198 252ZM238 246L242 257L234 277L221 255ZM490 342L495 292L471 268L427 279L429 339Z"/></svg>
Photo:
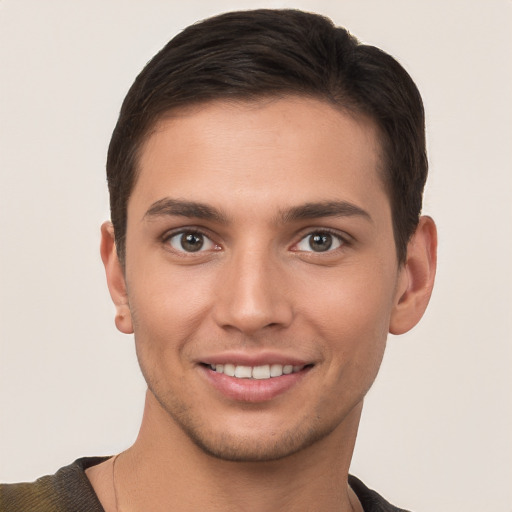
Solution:
<svg viewBox="0 0 512 512"><path fill-rule="evenodd" d="M132 334L132 316L126 293L124 270L117 256L114 226L111 222L104 222L101 226L100 252L110 296L116 307L116 327L124 334Z"/></svg>

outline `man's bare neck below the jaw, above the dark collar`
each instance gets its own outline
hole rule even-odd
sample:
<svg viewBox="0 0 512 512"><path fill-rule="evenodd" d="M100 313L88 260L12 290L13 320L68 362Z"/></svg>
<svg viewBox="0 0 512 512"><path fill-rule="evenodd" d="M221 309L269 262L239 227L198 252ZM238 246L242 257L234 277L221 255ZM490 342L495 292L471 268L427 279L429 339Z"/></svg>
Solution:
<svg viewBox="0 0 512 512"><path fill-rule="evenodd" d="M347 476L361 406L288 457L233 462L197 447L148 393L139 436L116 462L119 512L354 510Z"/></svg>

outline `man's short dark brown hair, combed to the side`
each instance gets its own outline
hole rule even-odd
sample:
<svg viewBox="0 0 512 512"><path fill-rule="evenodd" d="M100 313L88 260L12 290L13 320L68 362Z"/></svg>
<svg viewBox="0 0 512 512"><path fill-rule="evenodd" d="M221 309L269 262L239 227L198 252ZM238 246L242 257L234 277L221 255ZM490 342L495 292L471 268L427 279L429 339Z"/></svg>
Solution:
<svg viewBox="0 0 512 512"><path fill-rule="evenodd" d="M107 158L111 219L125 258L127 203L139 150L170 110L215 99L298 94L368 116L383 150L397 257L418 224L427 177L421 96L393 57L318 14L258 9L186 28L138 75L123 102Z"/></svg>

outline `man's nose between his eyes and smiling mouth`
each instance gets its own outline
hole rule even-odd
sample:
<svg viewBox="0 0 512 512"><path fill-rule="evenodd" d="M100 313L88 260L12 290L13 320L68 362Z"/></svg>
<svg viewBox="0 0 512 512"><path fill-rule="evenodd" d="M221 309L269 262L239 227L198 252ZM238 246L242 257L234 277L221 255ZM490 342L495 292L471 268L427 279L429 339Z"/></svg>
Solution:
<svg viewBox="0 0 512 512"><path fill-rule="evenodd" d="M269 250L249 248L225 262L213 310L217 325L246 335L290 325L293 298L277 260Z"/></svg>

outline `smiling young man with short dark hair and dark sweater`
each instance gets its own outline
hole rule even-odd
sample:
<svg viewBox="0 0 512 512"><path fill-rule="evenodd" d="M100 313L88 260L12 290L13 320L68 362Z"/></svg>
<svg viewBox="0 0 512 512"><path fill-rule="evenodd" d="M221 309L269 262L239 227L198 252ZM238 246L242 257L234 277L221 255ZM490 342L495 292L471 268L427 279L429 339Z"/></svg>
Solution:
<svg viewBox="0 0 512 512"><path fill-rule="evenodd" d="M388 332L421 318L424 116L405 70L300 11L229 13L137 77L101 255L148 384L140 434L0 510L399 510L349 466Z"/></svg>

